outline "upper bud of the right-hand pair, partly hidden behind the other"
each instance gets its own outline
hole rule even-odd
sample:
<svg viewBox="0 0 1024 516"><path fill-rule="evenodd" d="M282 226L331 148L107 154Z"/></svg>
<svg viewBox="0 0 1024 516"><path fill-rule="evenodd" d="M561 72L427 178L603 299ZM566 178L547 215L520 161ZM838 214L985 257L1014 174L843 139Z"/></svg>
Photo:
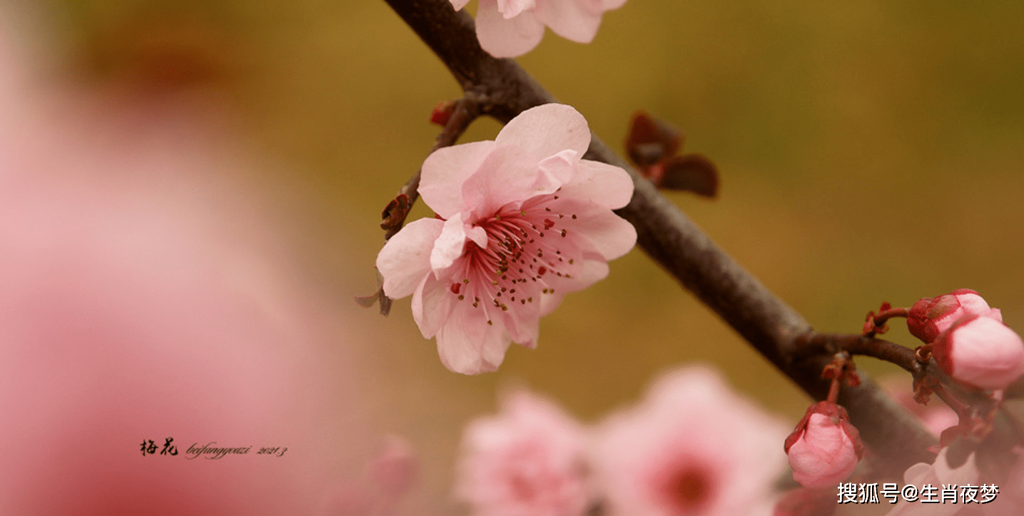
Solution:
<svg viewBox="0 0 1024 516"><path fill-rule="evenodd" d="M961 317L988 315L1002 320L999 310L992 309L985 299L971 289L958 289L934 298L921 298L910 307L906 326L910 334L927 342L949 329Z"/></svg>

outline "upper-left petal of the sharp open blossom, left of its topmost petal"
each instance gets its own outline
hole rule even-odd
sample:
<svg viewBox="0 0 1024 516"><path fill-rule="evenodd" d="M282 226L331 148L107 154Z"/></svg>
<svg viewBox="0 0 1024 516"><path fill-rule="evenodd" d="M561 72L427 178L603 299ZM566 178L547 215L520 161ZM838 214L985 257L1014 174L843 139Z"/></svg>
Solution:
<svg viewBox="0 0 1024 516"><path fill-rule="evenodd" d="M487 140L434 150L423 162L419 188L423 202L444 218L464 211L462 185L494 148L495 142Z"/></svg>

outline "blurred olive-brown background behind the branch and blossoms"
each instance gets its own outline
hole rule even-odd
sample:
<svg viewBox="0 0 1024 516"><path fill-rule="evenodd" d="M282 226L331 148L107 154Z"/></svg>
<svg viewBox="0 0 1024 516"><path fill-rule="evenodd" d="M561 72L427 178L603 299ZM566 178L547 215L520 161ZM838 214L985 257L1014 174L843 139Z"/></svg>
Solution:
<svg viewBox="0 0 1024 516"><path fill-rule="evenodd" d="M639 250L614 261L607 280L568 296L542 321L538 349L513 346L494 374L447 372L408 299L386 318L358 307L353 296L376 289L380 212L431 147L431 109L461 95L382 1L0 5L8 43L0 50L16 55L4 61L33 78L24 98L72 91L62 98L84 94L101 114L131 105L129 118L141 125L186 119L175 133L185 147L230 149L225 177L272 214L281 229L269 234L287 239L264 240L288 249L304 302L340 328L302 347L303 359L324 368L310 380L319 401L307 404L332 411L338 396L359 398L366 428L335 448L352 435L409 439L422 464L410 512L456 511L449 493L462 427L494 412L505 388L527 386L596 421L638 399L656 373L703 361L787 421L808 404ZM633 0L605 14L592 44L549 31L519 62L620 152L635 110L682 129L685 152L710 157L722 186L713 202L670 199L815 328L857 332L882 301L908 306L971 288L1020 332L1022 27L1024 4L1009 1ZM22 120L4 115L0 124L16 132ZM499 129L480 120L462 141ZM195 184L220 180L204 174ZM219 205L218 196L207 203ZM428 215L422 205L413 212ZM913 345L899 325L889 337ZM866 358L858 367L896 372ZM358 387L332 387L341 376ZM302 435L310 448L325 438L312 435L341 425L337 415L307 416L308 427L287 435Z"/></svg>

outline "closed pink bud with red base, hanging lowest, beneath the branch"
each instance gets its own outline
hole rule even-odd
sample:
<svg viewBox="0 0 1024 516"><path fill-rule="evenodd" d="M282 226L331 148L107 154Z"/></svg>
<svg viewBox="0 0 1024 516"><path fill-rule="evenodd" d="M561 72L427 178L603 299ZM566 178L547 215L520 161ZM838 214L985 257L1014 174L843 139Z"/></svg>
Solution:
<svg viewBox="0 0 1024 516"><path fill-rule="evenodd" d="M793 479L805 487L835 485L853 472L864 454L860 432L846 408L819 401L811 405L785 439Z"/></svg>

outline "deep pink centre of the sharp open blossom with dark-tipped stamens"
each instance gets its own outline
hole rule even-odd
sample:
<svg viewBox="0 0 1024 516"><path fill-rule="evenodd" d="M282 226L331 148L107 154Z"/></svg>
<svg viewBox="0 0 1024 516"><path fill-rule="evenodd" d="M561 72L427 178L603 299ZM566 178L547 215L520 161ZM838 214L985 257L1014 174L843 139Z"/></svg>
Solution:
<svg viewBox="0 0 1024 516"><path fill-rule="evenodd" d="M555 293L557 278L571 278L582 255L567 239L575 214L558 209L557 192L507 205L476 221L487 234L486 247L467 243L463 251L462 285L453 283L452 295L472 302L487 313L525 306L542 295ZM458 275L456 277L459 277Z"/></svg>

